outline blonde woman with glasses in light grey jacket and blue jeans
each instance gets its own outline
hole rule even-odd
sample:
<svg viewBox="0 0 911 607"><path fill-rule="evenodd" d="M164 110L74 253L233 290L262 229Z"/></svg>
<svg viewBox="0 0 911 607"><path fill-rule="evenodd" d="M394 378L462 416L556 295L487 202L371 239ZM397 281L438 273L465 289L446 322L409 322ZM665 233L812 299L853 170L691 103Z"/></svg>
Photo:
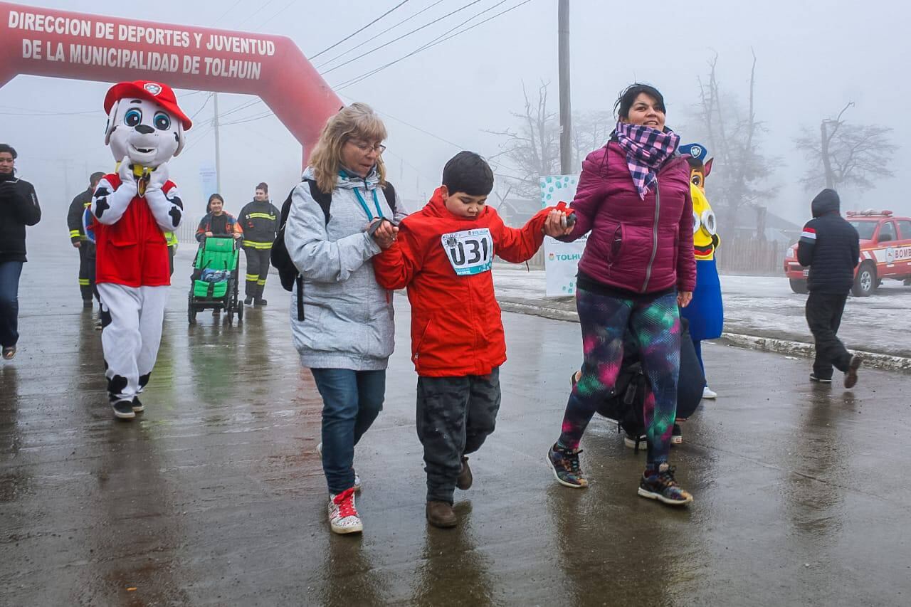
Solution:
<svg viewBox="0 0 911 607"><path fill-rule="evenodd" d="M385 138L383 121L363 103L330 118L292 193L285 228L288 253L303 279L303 320L292 304L294 346L322 396L318 450L336 533L363 530L354 505L360 489L354 445L383 408L394 347L392 293L376 283L370 261L392 244L394 223L404 217L393 213L380 187ZM307 180L332 194L328 221ZM292 302L296 298L295 291Z"/></svg>

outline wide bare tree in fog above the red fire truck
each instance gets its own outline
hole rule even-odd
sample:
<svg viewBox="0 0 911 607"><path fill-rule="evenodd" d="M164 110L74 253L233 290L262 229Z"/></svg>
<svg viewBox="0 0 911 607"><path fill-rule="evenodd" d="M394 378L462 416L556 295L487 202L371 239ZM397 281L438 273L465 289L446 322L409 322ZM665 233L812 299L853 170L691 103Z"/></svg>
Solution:
<svg viewBox="0 0 911 607"><path fill-rule="evenodd" d="M854 102L849 101L837 117L824 118L818 137L812 129L804 127L803 134L794 139L796 148L810 162L801 180L807 190L867 189L875 187L877 179L894 176L889 162L898 146L889 139L892 129L842 119L844 112L852 107Z"/></svg>

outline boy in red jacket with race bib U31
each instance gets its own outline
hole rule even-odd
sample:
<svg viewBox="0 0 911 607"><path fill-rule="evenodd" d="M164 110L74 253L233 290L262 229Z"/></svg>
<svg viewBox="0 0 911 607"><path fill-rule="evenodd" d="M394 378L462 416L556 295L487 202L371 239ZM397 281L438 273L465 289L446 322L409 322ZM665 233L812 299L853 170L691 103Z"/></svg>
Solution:
<svg viewBox="0 0 911 607"><path fill-rule="evenodd" d="M494 431L499 367L507 359L494 296L494 254L525 262L548 236L563 235L566 214L539 211L521 229L486 206L494 173L463 151L443 170L443 185L406 217L393 245L374 257L377 281L408 289L411 352L417 371L417 436L424 445L427 520L454 527L455 488L471 487L469 453Z"/></svg>

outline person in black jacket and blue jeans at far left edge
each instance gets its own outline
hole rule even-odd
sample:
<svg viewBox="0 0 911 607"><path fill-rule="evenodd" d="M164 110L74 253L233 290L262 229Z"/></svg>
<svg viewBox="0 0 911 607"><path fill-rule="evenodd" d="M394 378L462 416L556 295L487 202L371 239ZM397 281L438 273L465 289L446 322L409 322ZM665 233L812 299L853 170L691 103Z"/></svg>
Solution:
<svg viewBox="0 0 911 607"><path fill-rule="evenodd" d="M41 220L35 188L15 177L15 149L0 143L0 346L15 356L19 341L19 277L26 262L26 225Z"/></svg>

